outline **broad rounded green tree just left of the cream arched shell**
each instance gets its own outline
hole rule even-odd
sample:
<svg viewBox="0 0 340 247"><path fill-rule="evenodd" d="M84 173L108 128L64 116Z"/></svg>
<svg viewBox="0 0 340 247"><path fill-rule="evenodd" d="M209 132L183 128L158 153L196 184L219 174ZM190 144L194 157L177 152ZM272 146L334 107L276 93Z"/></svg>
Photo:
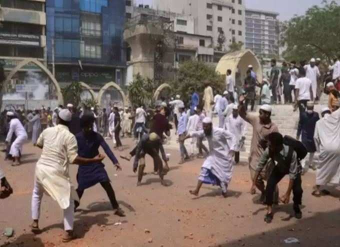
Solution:
<svg viewBox="0 0 340 247"><path fill-rule="evenodd" d="M193 91L202 98L204 92L204 80L210 82L214 92L225 90L224 77L215 71L214 66L201 61L188 60L180 64L177 72L177 80L170 82L172 90L180 94L185 103L189 102Z"/></svg>

